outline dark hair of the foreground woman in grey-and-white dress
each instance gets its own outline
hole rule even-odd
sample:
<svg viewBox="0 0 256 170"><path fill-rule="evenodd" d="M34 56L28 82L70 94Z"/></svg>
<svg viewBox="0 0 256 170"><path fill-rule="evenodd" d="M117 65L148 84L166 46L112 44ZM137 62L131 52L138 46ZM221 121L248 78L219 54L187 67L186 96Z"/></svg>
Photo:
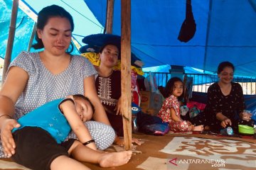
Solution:
<svg viewBox="0 0 256 170"><path fill-rule="evenodd" d="M38 13L38 20L36 23L37 29L43 30L43 28L48 23L49 18L53 18L55 16L59 16L61 18L67 18L68 21L70 21L71 32L73 32L74 30L73 17L70 15L70 13L65 11L64 8L57 5L46 6ZM74 45L72 42L70 42L70 46L71 47L69 47L67 51L69 54L74 50ZM44 47L43 41L40 38L38 38L37 33L36 33L36 44L33 44L32 47L36 50Z"/></svg>

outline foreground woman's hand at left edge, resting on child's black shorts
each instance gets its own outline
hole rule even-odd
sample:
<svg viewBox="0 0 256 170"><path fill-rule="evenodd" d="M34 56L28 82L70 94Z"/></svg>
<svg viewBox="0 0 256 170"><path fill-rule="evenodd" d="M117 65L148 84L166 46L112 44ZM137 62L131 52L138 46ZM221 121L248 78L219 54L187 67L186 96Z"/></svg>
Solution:
<svg viewBox="0 0 256 170"><path fill-rule="evenodd" d="M11 157L11 155L15 154L16 145L11 130L19 128L20 126L21 125L14 119L3 120L1 125L1 142L4 147L4 154L6 154L6 157Z"/></svg>

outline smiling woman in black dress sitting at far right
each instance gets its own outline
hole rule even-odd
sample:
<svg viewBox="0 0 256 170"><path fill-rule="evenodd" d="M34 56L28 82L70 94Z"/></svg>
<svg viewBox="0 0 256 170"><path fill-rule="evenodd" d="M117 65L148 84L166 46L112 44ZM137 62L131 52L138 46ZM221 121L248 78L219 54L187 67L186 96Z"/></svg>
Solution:
<svg viewBox="0 0 256 170"><path fill-rule="evenodd" d="M242 87L234 83L235 67L230 62L218 65L219 81L210 85L207 92L206 118L211 130L220 130L231 126L235 131L238 124L251 125L251 114L245 113L245 100Z"/></svg>

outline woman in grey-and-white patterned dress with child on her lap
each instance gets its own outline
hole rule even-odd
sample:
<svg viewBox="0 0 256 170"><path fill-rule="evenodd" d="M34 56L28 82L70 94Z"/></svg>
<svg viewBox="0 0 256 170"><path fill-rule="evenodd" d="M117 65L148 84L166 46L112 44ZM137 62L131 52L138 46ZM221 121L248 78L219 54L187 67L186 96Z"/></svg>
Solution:
<svg viewBox="0 0 256 170"><path fill-rule="evenodd" d="M98 122L88 121L85 125L97 148L105 149L112 145L116 135L95 90L97 72L85 57L70 55L73 29L72 16L60 6L47 6L38 13L37 43L33 47L43 50L21 52L9 66L0 91L1 157L15 154L17 146L11 130L19 126L18 118L48 101L73 94L87 96L96 108L93 119ZM71 138L76 138L73 132L66 141ZM64 151L67 151L70 144L65 146ZM50 164L58 159L58 153L57 149L42 166L52 169ZM35 154L31 153L31 157ZM38 162L38 166L40 164Z"/></svg>

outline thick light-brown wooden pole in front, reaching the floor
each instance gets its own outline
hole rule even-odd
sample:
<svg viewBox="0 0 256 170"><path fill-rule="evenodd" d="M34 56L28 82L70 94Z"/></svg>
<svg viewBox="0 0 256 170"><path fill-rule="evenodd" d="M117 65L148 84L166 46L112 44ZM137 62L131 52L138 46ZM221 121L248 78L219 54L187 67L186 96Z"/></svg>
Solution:
<svg viewBox="0 0 256 170"><path fill-rule="evenodd" d="M121 88L124 149L132 150L131 1L121 1Z"/></svg>

